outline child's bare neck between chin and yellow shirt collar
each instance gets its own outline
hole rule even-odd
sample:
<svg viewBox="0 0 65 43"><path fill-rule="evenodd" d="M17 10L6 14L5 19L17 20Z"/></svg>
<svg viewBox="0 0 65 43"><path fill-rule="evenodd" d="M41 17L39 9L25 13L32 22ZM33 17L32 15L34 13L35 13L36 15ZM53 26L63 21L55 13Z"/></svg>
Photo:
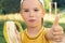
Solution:
<svg viewBox="0 0 65 43"><path fill-rule="evenodd" d="M41 25L36 27L27 27L27 32L30 37L34 37L40 31L40 29L41 29Z"/></svg>

